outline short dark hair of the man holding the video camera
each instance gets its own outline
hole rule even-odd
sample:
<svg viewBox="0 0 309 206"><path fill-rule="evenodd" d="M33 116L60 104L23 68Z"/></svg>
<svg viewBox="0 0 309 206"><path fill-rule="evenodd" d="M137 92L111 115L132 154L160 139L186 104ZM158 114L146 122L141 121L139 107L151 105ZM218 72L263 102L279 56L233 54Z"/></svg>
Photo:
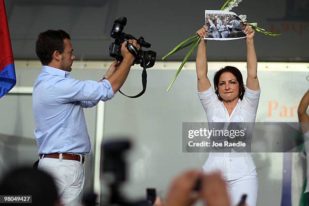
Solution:
<svg viewBox="0 0 309 206"><path fill-rule="evenodd" d="M53 53L58 50L64 52L64 39L71 39L64 30L47 30L38 35L35 52L42 65L48 65L53 59Z"/></svg>

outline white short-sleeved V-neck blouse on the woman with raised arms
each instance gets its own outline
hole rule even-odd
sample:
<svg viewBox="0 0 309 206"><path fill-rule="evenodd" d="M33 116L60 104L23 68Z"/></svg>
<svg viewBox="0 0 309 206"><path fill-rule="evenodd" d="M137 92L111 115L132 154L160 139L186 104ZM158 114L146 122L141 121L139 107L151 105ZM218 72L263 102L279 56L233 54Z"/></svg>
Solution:
<svg viewBox="0 0 309 206"><path fill-rule="evenodd" d="M231 115L229 115L223 102L219 100L213 87L204 92L198 92L198 96L206 112L209 123L254 123L256 111L258 110L260 93L261 90L253 91L245 88L243 99L238 99L238 103ZM221 170L228 181L248 175L255 168L251 152L210 152L208 160L203 165L204 172Z"/></svg>

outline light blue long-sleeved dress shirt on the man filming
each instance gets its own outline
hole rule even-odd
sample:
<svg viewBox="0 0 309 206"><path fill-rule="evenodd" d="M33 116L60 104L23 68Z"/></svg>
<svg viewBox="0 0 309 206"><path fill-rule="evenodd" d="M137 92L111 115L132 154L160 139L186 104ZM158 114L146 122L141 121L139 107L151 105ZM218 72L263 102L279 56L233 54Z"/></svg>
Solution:
<svg viewBox="0 0 309 206"><path fill-rule="evenodd" d="M83 108L91 108L114 96L108 80L72 79L70 73L48 66L34 82L32 93L34 134L38 155L91 151Z"/></svg>

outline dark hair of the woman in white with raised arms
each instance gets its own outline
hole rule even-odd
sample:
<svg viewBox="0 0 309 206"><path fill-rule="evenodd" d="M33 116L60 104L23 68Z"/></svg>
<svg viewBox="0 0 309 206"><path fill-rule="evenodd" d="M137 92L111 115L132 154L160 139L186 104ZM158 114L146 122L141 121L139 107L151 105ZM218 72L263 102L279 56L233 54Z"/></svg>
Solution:
<svg viewBox="0 0 309 206"><path fill-rule="evenodd" d="M221 98L221 96L219 94L219 90L218 90L219 79L220 79L221 74L223 74L224 72L230 72L230 73L232 73L236 77L236 79L237 79L237 81L239 83L239 95L238 95L238 97L240 98L240 100L242 100L244 92L245 92L245 88L244 88L243 80L242 80L242 74L239 71L239 69L237 69L236 67L232 67L232 66L226 66L226 67L220 69L215 74L214 86L215 86L215 92L216 92L219 100L222 101L222 98Z"/></svg>

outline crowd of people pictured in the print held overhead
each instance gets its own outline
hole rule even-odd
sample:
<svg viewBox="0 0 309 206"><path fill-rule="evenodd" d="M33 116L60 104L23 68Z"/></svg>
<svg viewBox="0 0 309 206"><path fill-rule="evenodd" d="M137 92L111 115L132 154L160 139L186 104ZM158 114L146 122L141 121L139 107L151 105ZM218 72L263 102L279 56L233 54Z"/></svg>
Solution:
<svg viewBox="0 0 309 206"><path fill-rule="evenodd" d="M244 24L236 15L206 14L208 26L207 38L240 38L246 36L242 30Z"/></svg>

